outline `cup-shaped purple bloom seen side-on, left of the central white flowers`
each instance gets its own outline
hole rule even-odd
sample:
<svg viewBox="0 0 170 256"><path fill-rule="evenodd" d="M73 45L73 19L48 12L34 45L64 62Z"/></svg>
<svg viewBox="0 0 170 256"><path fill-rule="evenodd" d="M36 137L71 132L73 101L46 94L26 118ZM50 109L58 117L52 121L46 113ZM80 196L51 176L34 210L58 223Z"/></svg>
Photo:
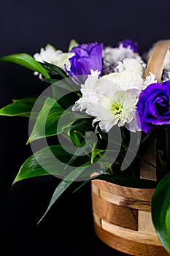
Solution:
<svg viewBox="0 0 170 256"><path fill-rule="evenodd" d="M87 75L90 75L90 69L102 70L102 50L103 43L92 42L88 44L82 44L72 48L71 53L75 53L72 58L69 59L71 67L70 71L66 72L70 76L82 75L79 77L81 82L84 82Z"/></svg>

